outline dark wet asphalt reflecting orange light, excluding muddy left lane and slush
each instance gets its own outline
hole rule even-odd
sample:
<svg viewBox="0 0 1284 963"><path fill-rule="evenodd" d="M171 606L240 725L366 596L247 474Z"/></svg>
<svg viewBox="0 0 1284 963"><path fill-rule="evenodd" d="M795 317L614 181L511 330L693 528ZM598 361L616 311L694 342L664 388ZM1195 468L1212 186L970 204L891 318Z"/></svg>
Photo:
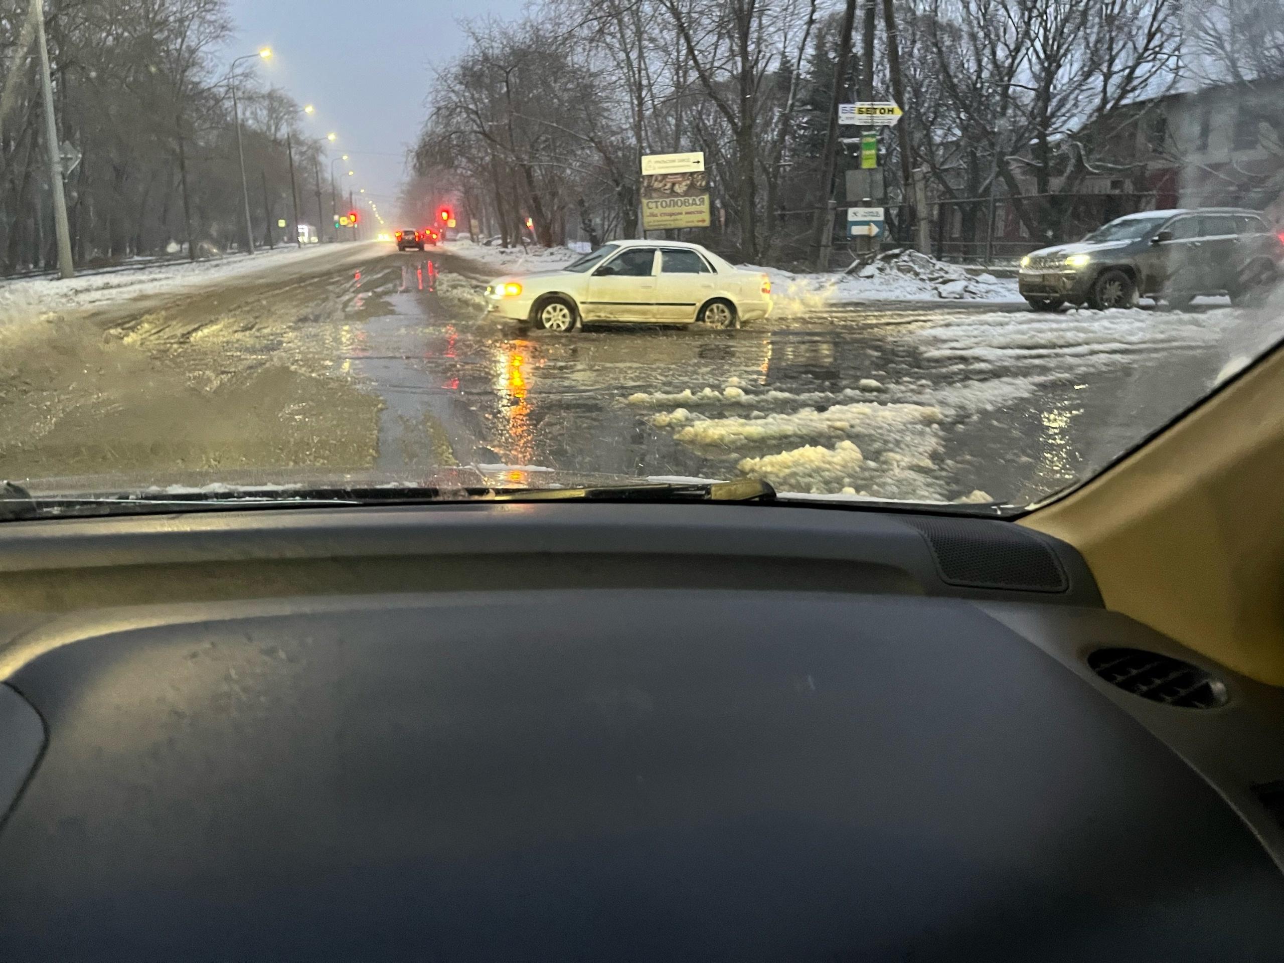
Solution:
<svg viewBox="0 0 1284 963"><path fill-rule="evenodd" d="M484 316L475 294L461 295L462 286L475 291L487 268L433 250L399 254L393 263L401 276L386 291L388 313L365 321L358 342L340 360L385 402L377 467L388 471L505 464L737 478L746 457L832 446L836 439L802 434L788 443L737 439L725 448L697 447L652 421L683 402L628 399L733 384L763 401L705 403L698 416L823 412L850 403L850 390L873 380L881 388L856 401L939 406L950 389L984 395L987 384L1035 371L1037 390L1018 397L999 392L998 403L982 401L963 411L946 406L933 426L937 446L930 465L918 469L940 482L937 497L981 490L1022 505L1126 452L1193 403L1222 363L1216 353L1175 348L1162 365L1149 356L1121 354L1117 365L1062 375L1045 357L1028 367L930 357L922 333L951 318L1003 313L1048 320L1022 311L1022 304L840 304L779 313L729 331L623 325L569 335L523 331ZM846 437L864 449L859 428ZM883 493L900 494L895 485Z"/></svg>

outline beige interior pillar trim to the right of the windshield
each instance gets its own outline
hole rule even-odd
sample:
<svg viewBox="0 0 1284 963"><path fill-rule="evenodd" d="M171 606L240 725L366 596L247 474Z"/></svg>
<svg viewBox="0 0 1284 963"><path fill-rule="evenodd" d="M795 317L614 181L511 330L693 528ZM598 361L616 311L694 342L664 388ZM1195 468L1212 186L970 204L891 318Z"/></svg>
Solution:
<svg viewBox="0 0 1284 963"><path fill-rule="evenodd" d="M1019 524L1075 546L1111 609L1284 686L1284 349Z"/></svg>

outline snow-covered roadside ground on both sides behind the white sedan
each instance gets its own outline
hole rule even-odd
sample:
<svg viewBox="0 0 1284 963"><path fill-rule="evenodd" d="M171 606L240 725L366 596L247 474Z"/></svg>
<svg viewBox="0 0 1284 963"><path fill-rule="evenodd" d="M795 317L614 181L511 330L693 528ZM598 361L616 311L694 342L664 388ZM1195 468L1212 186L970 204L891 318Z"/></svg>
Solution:
<svg viewBox="0 0 1284 963"><path fill-rule="evenodd" d="M505 273L547 271L580 257L580 252L570 248L497 248L467 240L452 241L449 250ZM795 273L758 265L743 267L761 271L772 279L776 311L781 315L800 315L862 300L1021 302L1014 279L1003 280L987 273L973 276L958 265L914 252L889 252L854 273Z"/></svg>

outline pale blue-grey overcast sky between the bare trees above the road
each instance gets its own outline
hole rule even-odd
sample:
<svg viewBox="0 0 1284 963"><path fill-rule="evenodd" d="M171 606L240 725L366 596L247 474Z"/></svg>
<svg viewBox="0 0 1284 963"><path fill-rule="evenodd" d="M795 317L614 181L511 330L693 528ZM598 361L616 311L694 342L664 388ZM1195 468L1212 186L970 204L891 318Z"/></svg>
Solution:
<svg viewBox="0 0 1284 963"><path fill-rule="evenodd" d="M267 44L261 76L313 104L318 136L339 135L357 187L394 209L404 152L424 121L433 67L462 51L461 17L510 18L525 0L229 0L238 37L227 59Z"/></svg>

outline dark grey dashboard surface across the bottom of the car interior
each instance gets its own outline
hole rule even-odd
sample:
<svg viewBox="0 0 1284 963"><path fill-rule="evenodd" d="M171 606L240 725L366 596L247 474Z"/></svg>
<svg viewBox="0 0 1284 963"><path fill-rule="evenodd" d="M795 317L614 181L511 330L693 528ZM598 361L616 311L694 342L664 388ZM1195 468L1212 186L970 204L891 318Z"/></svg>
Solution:
<svg viewBox="0 0 1284 963"><path fill-rule="evenodd" d="M1117 619L1070 550L1021 591L1011 533L610 508L0 528L0 602L46 602L0 612L45 729L0 959L1284 958L1244 819L1013 628ZM311 592L309 552L348 560ZM389 556L397 591L353 574Z"/></svg>

